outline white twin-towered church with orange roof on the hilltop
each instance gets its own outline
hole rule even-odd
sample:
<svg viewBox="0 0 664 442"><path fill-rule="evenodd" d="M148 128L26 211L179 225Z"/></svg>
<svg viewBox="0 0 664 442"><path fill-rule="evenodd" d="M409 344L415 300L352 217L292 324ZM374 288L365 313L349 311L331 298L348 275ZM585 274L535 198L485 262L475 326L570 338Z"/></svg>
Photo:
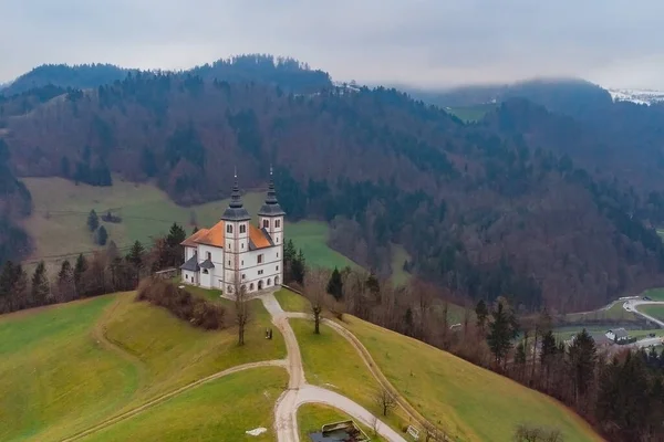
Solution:
<svg viewBox="0 0 664 442"><path fill-rule="evenodd" d="M258 225L242 203L235 176L230 203L218 223L200 229L183 241L185 284L234 293L243 285L247 293L279 286L283 281L283 210L277 201L272 170Z"/></svg>

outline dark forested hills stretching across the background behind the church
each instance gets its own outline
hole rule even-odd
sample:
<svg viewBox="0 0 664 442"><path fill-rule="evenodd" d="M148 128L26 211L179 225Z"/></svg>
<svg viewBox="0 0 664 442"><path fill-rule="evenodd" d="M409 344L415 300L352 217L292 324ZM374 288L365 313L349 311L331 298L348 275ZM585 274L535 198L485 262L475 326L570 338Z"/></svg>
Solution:
<svg viewBox="0 0 664 442"><path fill-rule="evenodd" d="M664 251L639 194L566 155L577 137L533 136L560 116L510 102L466 126L394 90L288 93L310 84L298 65L272 84L218 80L212 65L207 80L137 73L31 96L1 134L19 175L154 178L181 204L225 197L236 166L243 188L261 185L273 164L290 217L330 221L343 253L386 273L390 243L403 244L412 272L474 298L579 309L658 281Z"/></svg>

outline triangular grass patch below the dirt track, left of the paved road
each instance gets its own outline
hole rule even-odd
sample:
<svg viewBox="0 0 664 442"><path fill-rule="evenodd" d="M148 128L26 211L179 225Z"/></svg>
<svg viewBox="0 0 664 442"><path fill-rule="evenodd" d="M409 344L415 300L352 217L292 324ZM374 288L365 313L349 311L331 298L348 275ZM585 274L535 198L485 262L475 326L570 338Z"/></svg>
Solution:
<svg viewBox="0 0 664 442"><path fill-rule="evenodd" d="M288 385L282 368L253 368L204 383L83 441L273 441L272 408ZM263 428L258 436L246 431Z"/></svg>

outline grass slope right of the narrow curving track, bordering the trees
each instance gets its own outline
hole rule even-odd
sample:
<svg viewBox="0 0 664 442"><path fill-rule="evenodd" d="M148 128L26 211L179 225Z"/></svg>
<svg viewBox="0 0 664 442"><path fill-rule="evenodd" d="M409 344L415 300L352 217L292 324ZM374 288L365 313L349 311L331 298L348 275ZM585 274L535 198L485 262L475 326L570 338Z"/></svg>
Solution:
<svg viewBox="0 0 664 442"><path fill-rule="evenodd" d="M602 440L579 415L544 394L424 343L345 318L392 385L453 436L507 441L518 424L528 423L557 428L568 442Z"/></svg>

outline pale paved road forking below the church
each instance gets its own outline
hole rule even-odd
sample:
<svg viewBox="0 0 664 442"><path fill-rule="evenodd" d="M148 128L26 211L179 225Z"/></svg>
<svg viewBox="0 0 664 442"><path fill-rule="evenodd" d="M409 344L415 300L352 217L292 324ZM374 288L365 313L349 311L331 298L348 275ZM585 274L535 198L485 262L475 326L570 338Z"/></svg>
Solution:
<svg viewBox="0 0 664 442"><path fill-rule="evenodd" d="M390 442L406 442L396 431L375 418L359 403L338 392L307 383L300 347L298 339L295 339L295 334L288 323L288 316L308 316L305 314L287 314L271 293L260 298L266 309L272 315L272 323L283 335L288 350L289 388L279 397L274 406L274 430L279 442L300 442L298 408L303 403L324 403L334 407L371 428L374 427L375 421L375 429L380 435Z"/></svg>

